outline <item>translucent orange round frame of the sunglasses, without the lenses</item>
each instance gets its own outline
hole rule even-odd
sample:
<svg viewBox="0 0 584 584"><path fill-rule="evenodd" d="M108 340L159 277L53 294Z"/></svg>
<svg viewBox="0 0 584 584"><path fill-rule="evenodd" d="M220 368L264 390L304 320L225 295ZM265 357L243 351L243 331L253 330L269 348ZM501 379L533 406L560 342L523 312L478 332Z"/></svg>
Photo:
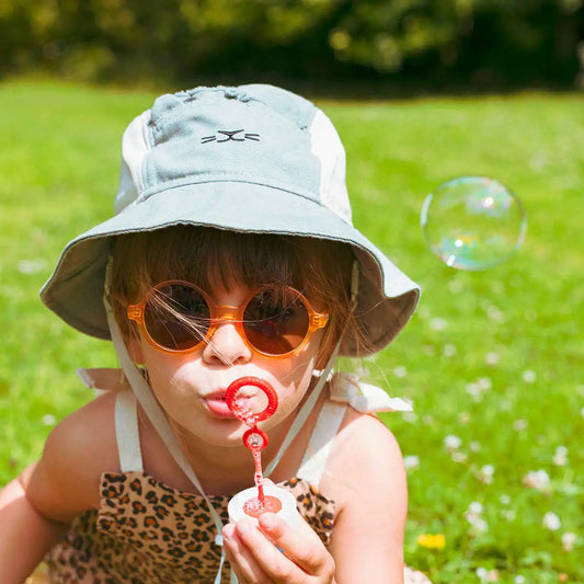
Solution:
<svg viewBox="0 0 584 584"><path fill-rule="evenodd" d="M203 296L203 298L207 302L207 306L209 307L209 311L210 311L209 328L207 330L207 333L205 334L205 337L202 341L199 341L198 343L196 343L195 345L193 345L192 347L188 347L188 348L174 350L174 348L169 348L169 347L167 347L164 345L161 345L161 344L157 343L150 336L150 333L148 332L148 329L146 328L146 322L145 322L144 314L145 314L146 305L148 304L148 300L150 299L150 297L153 294L156 294L156 290L159 290L160 288L163 288L165 286L171 286L171 285L174 285L174 284L181 285L181 286L188 286L190 288L193 288L196 291L198 291L201 294L201 296ZM239 306L230 306L230 305L217 305L217 304L215 304L210 299L210 297L207 294L205 294L204 290L202 290L198 286L195 286L191 282L185 282L183 279L169 279L169 280L165 280L165 282L159 282L158 284L152 286L148 290L148 293L146 294L145 299L141 302L138 302L136 305L128 305L128 307L127 307L127 317L128 317L129 320L136 322L140 327L140 330L142 332L144 337L146 339L146 341L148 341L148 343L150 345L152 345L158 351L161 351L162 353L167 353L167 354L170 354L170 355L184 355L184 354L187 354L187 353L194 353L195 351L201 348L203 345L209 343L210 339L215 334L215 331L217 330L217 327L219 324L221 324L224 322L232 322L234 324L236 330L238 331L240 337L245 343L245 346L248 346L248 348L250 348L252 351L252 353L256 353L259 355L262 355L263 357L270 357L270 358L274 358L274 359L278 359L278 358L283 358L283 357L290 357L291 355L296 355L297 353L302 351L302 348L307 345L308 341L310 340L310 337L312 336L312 334L316 331L327 327L327 323L329 322L329 312L327 310L324 310L323 312L317 312L312 308L312 306L310 305L308 299L301 293L299 293L297 289L293 288L291 286L286 286L287 289L291 290L295 295L297 295L297 297L300 299L300 301L302 302L304 307L306 308L306 310L308 312L308 330L307 330L302 341L298 344L298 346L294 347L291 351L288 351L287 353L277 354L277 355L273 355L272 353L264 353L263 351L260 351L257 347L255 347L249 341L248 335L245 334L245 329L243 327L244 323L245 323L245 321L243 320L243 312L245 311L245 308L248 307L248 305L250 304L252 298L254 298L260 291L262 291L262 290L264 290L266 288L270 288L270 287L271 286L268 286L268 285L260 286L259 288L253 290L252 294L250 294L247 297L244 302L242 302Z"/></svg>

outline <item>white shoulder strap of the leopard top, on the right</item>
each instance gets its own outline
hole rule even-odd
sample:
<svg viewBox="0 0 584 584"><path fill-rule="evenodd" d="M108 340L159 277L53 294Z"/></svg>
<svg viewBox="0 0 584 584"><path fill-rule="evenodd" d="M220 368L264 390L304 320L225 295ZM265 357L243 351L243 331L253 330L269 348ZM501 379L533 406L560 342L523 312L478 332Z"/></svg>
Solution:
<svg viewBox="0 0 584 584"><path fill-rule="evenodd" d="M305 479L310 484L318 486L327 460L331 454L334 438L339 433L343 417L345 416L346 405L327 401L319 414L319 419L310 436L308 448L298 469L298 478Z"/></svg>

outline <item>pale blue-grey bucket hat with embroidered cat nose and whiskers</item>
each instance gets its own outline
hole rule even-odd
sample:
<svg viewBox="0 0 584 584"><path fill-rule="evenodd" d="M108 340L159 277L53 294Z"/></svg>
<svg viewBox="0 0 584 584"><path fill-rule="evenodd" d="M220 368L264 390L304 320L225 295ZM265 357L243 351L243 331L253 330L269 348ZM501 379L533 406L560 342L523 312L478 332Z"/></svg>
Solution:
<svg viewBox="0 0 584 584"><path fill-rule="evenodd" d="M79 331L111 339L103 289L112 239L176 225L351 245L359 267L355 314L370 352L399 333L417 304L417 285L352 225L345 152L332 123L279 88L158 98L124 133L114 216L66 245L41 298ZM341 354L356 352L345 339Z"/></svg>

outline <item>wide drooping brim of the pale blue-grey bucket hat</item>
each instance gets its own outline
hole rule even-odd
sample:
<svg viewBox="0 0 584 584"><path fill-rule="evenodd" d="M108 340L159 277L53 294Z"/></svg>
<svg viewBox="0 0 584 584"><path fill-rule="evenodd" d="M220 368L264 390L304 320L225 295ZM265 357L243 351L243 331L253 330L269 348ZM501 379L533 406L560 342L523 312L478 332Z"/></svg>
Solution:
<svg viewBox="0 0 584 584"><path fill-rule="evenodd" d="M357 311L370 352L391 342L419 300L419 286L329 208L297 193L237 181L182 185L129 205L67 244L41 298L79 331L110 339L103 286L111 238L175 225L313 237L353 245L360 268ZM352 339L341 347L345 355L356 351Z"/></svg>

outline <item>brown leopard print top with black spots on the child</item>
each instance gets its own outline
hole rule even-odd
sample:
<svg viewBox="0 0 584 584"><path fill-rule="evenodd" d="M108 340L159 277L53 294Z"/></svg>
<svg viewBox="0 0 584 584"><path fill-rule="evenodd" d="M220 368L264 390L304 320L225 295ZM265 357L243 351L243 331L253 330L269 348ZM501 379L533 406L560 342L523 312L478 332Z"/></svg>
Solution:
<svg viewBox="0 0 584 584"><path fill-rule="evenodd" d="M280 486L324 543L334 502L304 479ZM208 496L228 522L229 496ZM183 493L145 472L104 473L101 506L79 515L46 558L55 584L213 584L221 558L215 524L201 495ZM226 562L227 563L227 562ZM227 568L221 584L229 583Z"/></svg>

